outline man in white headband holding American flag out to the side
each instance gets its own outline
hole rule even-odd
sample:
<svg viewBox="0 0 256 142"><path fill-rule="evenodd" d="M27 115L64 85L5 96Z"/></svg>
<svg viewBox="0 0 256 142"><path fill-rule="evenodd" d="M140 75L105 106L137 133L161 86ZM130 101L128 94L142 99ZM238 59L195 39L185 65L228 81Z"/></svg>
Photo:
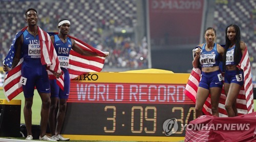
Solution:
<svg viewBox="0 0 256 142"><path fill-rule="evenodd" d="M58 23L59 33L49 33L58 55L59 64L63 72L64 89L60 89L57 81L51 83L51 107L49 114L49 126L52 138L67 141L60 135L62 124L66 114L67 100L70 93L70 79L87 72L100 72L104 59L109 52L101 52L90 45L68 36L71 23L68 19L61 19ZM71 73L71 74L70 74ZM56 116L56 108L58 111Z"/></svg>

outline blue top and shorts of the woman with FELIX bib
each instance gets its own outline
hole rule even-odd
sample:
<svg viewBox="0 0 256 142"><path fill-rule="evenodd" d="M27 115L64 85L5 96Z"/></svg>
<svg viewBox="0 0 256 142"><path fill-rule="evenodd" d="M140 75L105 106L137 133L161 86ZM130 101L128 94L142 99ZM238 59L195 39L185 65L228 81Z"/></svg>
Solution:
<svg viewBox="0 0 256 142"><path fill-rule="evenodd" d="M213 66L219 66L220 64L220 54L217 51L217 44L214 44L214 48L211 51L206 51L205 50L205 45L204 43L202 47L202 52L200 55L200 64L203 67L213 67ZM222 88L223 78L221 75L220 70L216 70L215 72L211 73L204 73L202 72L202 77L199 82L199 87L209 89L211 87L220 87Z"/></svg>

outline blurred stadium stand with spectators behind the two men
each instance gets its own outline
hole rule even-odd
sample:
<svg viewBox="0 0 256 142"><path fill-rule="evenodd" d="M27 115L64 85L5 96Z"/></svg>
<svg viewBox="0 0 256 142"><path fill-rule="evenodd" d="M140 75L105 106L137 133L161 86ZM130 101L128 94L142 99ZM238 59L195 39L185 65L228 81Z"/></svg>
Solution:
<svg viewBox="0 0 256 142"><path fill-rule="evenodd" d="M132 29L137 20L136 1L4 1L0 5L1 57L8 53L13 35L25 23L24 11L38 11L38 25L48 32L57 32L60 18L70 19L70 35L95 48L109 51L105 65L114 67L147 68L147 51L143 41L135 44L134 33L122 34L116 28ZM143 44L143 45L142 45ZM125 56L119 56L119 55ZM113 55L113 56L112 56ZM2 59L2 58L1 58ZM2 62L1 62L2 63ZM2 64L1 64L2 65Z"/></svg>

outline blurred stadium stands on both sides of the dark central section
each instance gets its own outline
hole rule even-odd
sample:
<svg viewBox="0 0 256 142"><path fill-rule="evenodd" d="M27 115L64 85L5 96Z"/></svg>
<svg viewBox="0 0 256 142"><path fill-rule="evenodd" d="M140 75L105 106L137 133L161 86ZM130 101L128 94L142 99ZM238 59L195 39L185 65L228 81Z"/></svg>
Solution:
<svg viewBox="0 0 256 142"><path fill-rule="evenodd" d="M9 50L13 35L25 23L24 11L30 7L37 9L38 25L48 32L57 32L60 18L72 22L70 35L77 37L95 48L109 51L105 66L117 68L147 68L146 39L135 40L134 30L138 22L136 0L0 0L0 59ZM141 11L141 10L140 10ZM248 46L251 66L256 70L256 2L254 0L216 0L213 27L217 30L217 42L225 43L225 28L230 23L241 27L242 40ZM121 33L120 29L130 30ZM118 31L119 30L119 31ZM144 35L145 36L145 35ZM122 56L120 56L122 55ZM0 63L2 64L2 61ZM103 68L104 69L104 68ZM256 72L252 72L256 80Z"/></svg>

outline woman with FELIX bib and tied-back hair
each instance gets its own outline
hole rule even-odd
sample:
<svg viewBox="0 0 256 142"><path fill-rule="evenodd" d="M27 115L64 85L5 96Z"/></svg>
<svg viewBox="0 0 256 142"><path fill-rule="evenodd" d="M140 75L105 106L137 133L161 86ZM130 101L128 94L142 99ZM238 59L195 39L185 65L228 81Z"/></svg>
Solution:
<svg viewBox="0 0 256 142"><path fill-rule="evenodd" d="M202 115L203 105L210 93L212 115L219 116L218 105L222 90L222 75L219 68L224 48L215 43L216 30L207 28L204 33L206 43L200 44L195 52L193 67L202 67L202 76L196 94L196 117Z"/></svg>

